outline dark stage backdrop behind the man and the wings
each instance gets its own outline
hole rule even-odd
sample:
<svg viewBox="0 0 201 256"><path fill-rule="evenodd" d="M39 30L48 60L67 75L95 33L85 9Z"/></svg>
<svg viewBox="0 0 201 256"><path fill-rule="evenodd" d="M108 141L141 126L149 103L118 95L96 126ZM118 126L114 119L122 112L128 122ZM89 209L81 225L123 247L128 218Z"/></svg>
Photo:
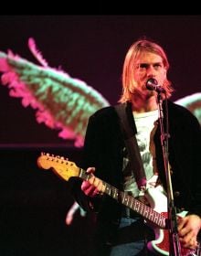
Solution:
<svg viewBox="0 0 201 256"><path fill-rule="evenodd" d="M121 94L125 54L143 36L169 57L173 101L200 91L201 16L0 16L0 31L0 50L37 63L27 48L28 37L34 37L50 67L84 80L111 104ZM88 255L90 217L77 214L67 227L73 202L68 183L37 167L41 151L79 164L81 150L38 124L35 111L2 85L0 119L1 255Z"/></svg>

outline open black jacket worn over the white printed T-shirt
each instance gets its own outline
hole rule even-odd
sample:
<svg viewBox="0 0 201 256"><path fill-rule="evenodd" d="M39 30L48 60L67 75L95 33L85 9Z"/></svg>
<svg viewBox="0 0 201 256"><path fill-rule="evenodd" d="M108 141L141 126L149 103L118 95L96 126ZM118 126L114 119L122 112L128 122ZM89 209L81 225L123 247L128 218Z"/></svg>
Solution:
<svg viewBox="0 0 201 256"><path fill-rule="evenodd" d="M165 109L165 108L164 108ZM164 111L165 112L165 111ZM130 122L132 111L128 108ZM164 113L165 116L165 113ZM196 117L184 107L168 101L169 162L172 166L175 206L201 214L201 129ZM165 120L164 120L165 123ZM164 125L165 127L165 125ZM159 125L154 135L159 176L165 186L163 154ZM95 166L95 176L122 189L122 148L124 146L118 115L110 106L95 112L89 120L84 145L83 168ZM80 184L79 184L80 186ZM121 206L111 197L87 198L78 186L72 193L82 208L92 201L98 220L117 223Z"/></svg>

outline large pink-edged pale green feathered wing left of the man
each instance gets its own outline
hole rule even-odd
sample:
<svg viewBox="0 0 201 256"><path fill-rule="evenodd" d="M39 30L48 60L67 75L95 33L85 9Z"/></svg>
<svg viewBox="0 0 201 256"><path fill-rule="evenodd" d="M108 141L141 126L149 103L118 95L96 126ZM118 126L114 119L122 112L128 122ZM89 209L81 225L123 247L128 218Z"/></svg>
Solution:
<svg viewBox="0 0 201 256"><path fill-rule="evenodd" d="M22 98L24 107L30 105L37 110L38 123L58 129L59 137L75 140L75 145L81 146L90 115L109 102L84 81L50 68L33 38L29 38L28 46L42 66L11 51L0 51L2 84L9 87L10 96Z"/></svg>

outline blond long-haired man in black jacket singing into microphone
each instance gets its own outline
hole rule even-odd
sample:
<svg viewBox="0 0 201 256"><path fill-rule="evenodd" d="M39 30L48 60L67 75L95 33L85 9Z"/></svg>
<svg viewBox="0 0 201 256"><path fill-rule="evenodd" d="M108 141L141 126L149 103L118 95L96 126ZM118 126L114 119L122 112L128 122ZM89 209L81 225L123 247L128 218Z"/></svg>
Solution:
<svg viewBox="0 0 201 256"><path fill-rule="evenodd" d="M165 100L173 92L166 76L168 69L169 63L163 48L149 40L136 41L124 60L120 102L126 105L132 129L136 126L136 140L143 160L147 190L160 187L165 195L167 185L158 122L158 94L164 101L164 117L168 116L169 119L168 162L171 166L175 207L177 211L188 211L178 223L179 241L182 250L187 248L193 251L197 247L197 234L201 227L200 125L196 117L184 107ZM153 91L148 90L147 81L157 82L162 86L162 92L154 90L154 87ZM166 118L163 123L165 127ZM87 172L92 176L89 181L82 181L79 187L73 187L72 192L82 208L97 211L91 255L154 255L157 250L153 250L150 243L147 250L147 240L154 239L155 227L145 225L139 212L122 206L120 200L102 193L106 192L103 180L138 198L143 204L152 205L146 191L143 195L136 183L136 167L131 165L121 131L120 118L114 107L101 109L90 117L83 166L88 168ZM164 203L155 198L153 200ZM166 205L164 208L167 211Z"/></svg>

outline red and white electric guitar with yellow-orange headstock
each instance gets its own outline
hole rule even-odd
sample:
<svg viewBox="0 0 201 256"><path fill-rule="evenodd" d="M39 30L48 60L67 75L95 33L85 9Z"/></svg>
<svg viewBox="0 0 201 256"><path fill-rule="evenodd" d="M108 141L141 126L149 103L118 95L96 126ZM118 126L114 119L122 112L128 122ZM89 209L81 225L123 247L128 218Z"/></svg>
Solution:
<svg viewBox="0 0 201 256"><path fill-rule="evenodd" d="M68 181L72 176L78 176L83 180L89 180L91 175L87 174L85 170L79 168L75 163L70 162L61 156L54 156L41 153L37 158L37 165L43 169L52 168L53 172ZM126 192L122 192L116 187L102 181L103 189L101 192L114 198L122 205L131 208L133 211L139 213L144 219L152 223L152 228L155 234L155 240L149 241L147 247L156 255L169 255L169 231L166 229L167 219L167 198L162 193L161 187L148 188L146 192L146 199L150 206L143 204L140 200L129 196ZM162 203L163 202L163 203ZM186 213L186 212L185 212ZM178 219L183 216L178 214ZM198 256L197 250L190 250L181 247L181 256Z"/></svg>

